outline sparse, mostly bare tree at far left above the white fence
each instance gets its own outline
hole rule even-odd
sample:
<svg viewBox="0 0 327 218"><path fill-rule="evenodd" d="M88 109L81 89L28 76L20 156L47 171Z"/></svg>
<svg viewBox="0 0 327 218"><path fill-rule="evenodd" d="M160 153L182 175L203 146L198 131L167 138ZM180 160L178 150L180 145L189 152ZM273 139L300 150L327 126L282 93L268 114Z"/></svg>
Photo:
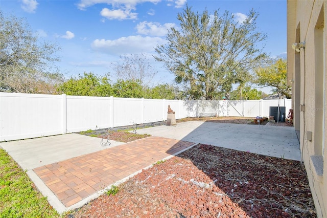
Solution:
<svg viewBox="0 0 327 218"><path fill-rule="evenodd" d="M38 40L25 19L0 11L0 91L52 94L63 78L51 72L58 49Z"/></svg>

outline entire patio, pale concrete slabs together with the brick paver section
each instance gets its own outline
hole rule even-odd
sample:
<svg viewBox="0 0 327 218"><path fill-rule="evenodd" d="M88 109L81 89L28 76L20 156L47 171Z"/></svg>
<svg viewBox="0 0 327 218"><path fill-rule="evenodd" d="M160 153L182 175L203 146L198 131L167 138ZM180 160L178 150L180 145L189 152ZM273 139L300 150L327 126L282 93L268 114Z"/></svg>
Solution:
<svg viewBox="0 0 327 218"><path fill-rule="evenodd" d="M137 129L150 134L130 143L66 134L0 143L60 213L81 207L106 188L126 181L158 160L197 143L300 160L293 127L188 121Z"/></svg>

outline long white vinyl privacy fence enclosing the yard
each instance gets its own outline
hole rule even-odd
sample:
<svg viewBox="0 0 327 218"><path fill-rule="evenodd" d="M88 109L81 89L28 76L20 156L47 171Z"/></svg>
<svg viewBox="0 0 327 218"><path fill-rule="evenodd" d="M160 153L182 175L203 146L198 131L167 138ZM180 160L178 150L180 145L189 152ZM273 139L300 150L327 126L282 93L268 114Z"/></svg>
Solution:
<svg viewBox="0 0 327 218"><path fill-rule="evenodd" d="M269 106L291 108L291 99L183 101L0 93L0 142L102 129L167 118L199 116L268 117ZM287 115L286 115L287 116Z"/></svg>

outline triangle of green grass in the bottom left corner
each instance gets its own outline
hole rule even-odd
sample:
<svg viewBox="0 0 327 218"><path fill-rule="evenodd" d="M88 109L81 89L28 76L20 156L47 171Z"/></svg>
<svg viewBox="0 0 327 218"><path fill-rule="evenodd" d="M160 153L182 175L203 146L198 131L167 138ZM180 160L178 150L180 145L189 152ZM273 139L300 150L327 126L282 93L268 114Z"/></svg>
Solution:
<svg viewBox="0 0 327 218"><path fill-rule="evenodd" d="M0 149L0 217L60 217L32 181Z"/></svg>

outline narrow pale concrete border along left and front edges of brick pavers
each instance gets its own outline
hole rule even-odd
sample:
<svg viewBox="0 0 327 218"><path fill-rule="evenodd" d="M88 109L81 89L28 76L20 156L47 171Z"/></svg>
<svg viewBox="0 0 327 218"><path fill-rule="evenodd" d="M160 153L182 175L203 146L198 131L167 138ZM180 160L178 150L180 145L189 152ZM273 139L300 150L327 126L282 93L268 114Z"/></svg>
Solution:
<svg viewBox="0 0 327 218"><path fill-rule="evenodd" d="M184 149L182 149L182 150L180 150L180 151L174 153L173 155L170 155L170 156L168 156L168 157L162 159L162 160L168 160L168 159L171 159L172 157L175 157L176 155L179 155L180 153L184 152L185 150L188 150L188 149L190 149L190 148L192 148L192 147L194 147L194 146L196 146L196 145L198 145L198 144L199 144L199 143L195 143L195 144L193 144L193 145L191 145L191 146L189 146L189 147L187 147L187 148L184 148ZM118 186L118 185L120 185L120 184L126 182L126 181L129 180L130 178L136 176L138 173L142 172L142 170L149 169L149 168L151 168L152 166L153 166L153 164L151 164L151 165L149 165L149 166L147 166L147 167L145 167L145 168L143 168L143 169L140 169L140 170L138 170L138 171L132 173L131 175L129 175L129 176L127 176L127 177L125 177L125 178L123 178L123 179L121 179L121 180L118 180L118 181L116 181L115 183L113 183L113 184L107 186L106 188L104 188L104 189L102 189L102 190L100 190L100 191L97 191L97 192L94 193L94 194L89 195L89 196L86 197L85 199L83 199L83 200L79 201L78 203L76 203L76 204L74 204L74 205L72 205L72 206L69 206L69 207L65 207L65 206L60 202L60 200L56 197L56 195L55 195L55 194L54 194L54 193L53 193L53 192L52 192L48 187L46 187L46 185L45 185L42 181L41 181L41 183L43 183L43 185L45 186L45 189L48 189L48 190L51 192L51 193L49 193L49 194L50 194L50 197L48 197L48 201L49 201L49 203L51 204L51 206L53 206L53 207L57 210L58 213L63 214L64 212L67 212L67 211L69 211L69 210L74 210L74 209L77 209L77 208L80 208L80 207L84 206L84 205L87 204L88 202L90 202L90 201L92 201L92 200L98 198L100 195L104 194L107 190L111 189L112 186ZM34 173L34 171L33 171L33 173ZM35 173L34 173L34 175L36 176ZM37 176L36 176L36 177L37 177ZM38 178L38 177L37 177L37 179L40 180L40 178ZM43 187L42 187L42 188L43 188ZM41 192L42 192L42 191L41 191ZM45 193L45 192L44 192L44 193ZM48 192L46 192L46 193L48 193ZM42 194L43 194L43 192L42 192ZM43 195L44 195L44 194L43 194ZM54 196L54 198L55 198L54 200L51 198L51 197L53 197L53 196L51 196L51 195ZM53 200L53 201L51 201L51 200ZM51 202L50 202L50 201L51 201Z"/></svg>

